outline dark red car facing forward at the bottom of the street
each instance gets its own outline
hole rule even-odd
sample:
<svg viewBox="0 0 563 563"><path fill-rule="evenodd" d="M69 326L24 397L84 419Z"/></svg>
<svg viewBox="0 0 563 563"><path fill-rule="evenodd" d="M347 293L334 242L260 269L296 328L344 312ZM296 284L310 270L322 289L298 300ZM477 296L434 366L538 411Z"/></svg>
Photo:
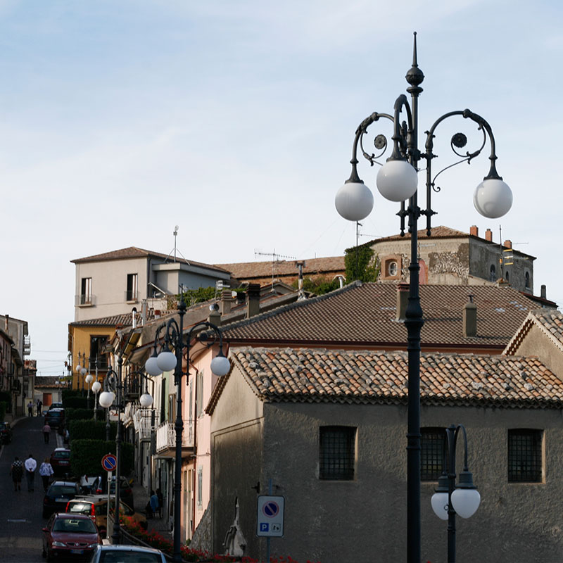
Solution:
<svg viewBox="0 0 563 563"><path fill-rule="evenodd" d="M43 557L84 559L101 543L93 521L84 514L53 514L43 529Z"/></svg>

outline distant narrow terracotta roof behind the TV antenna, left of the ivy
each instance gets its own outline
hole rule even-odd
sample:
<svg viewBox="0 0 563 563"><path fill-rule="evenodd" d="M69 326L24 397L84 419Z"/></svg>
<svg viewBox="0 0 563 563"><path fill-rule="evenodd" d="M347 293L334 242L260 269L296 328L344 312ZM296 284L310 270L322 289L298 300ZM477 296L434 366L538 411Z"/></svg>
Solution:
<svg viewBox="0 0 563 563"><path fill-rule="evenodd" d="M276 276L296 276L298 269L295 260L279 260L274 262L236 262L234 264L215 264L215 266L231 272L236 279L252 279L258 277L271 277L272 271ZM343 256L332 256L330 258L310 258L305 260L303 267L303 275L310 276L312 274L331 274L332 272L343 272L344 266Z"/></svg>

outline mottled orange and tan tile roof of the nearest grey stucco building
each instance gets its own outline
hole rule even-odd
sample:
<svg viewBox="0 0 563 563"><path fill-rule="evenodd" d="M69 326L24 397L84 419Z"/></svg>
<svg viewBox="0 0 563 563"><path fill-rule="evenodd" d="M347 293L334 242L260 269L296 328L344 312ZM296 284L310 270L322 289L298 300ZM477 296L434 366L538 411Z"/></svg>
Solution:
<svg viewBox="0 0 563 563"><path fill-rule="evenodd" d="M297 403L407 401L407 353L322 348L232 348L230 358L260 400ZM220 384L209 412L231 374ZM562 408L563 381L537 358L423 354L423 405Z"/></svg>

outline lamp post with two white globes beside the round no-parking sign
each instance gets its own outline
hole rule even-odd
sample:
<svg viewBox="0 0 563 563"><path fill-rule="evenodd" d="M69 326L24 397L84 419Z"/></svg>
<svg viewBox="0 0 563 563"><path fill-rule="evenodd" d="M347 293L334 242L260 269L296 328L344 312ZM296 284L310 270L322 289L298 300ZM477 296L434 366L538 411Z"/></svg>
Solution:
<svg viewBox="0 0 563 563"><path fill-rule="evenodd" d="M121 413L125 411L125 397L127 396L128 389L127 383L122 381L122 366L123 358L121 354L118 355L118 371L115 372L113 368L108 369L106 379L104 381L104 391L100 393L99 403L101 407L109 409L111 405L115 405L118 410L118 431L115 435L115 457L117 463L115 465L115 517L113 523L113 533L111 534L112 543L120 543L120 521L119 521L119 506L120 506L120 476L121 476L121 443L123 440L123 423L121 420ZM98 383L96 381L96 383ZM144 393L139 398L139 403L142 407L150 407L153 404L153 398Z"/></svg>

